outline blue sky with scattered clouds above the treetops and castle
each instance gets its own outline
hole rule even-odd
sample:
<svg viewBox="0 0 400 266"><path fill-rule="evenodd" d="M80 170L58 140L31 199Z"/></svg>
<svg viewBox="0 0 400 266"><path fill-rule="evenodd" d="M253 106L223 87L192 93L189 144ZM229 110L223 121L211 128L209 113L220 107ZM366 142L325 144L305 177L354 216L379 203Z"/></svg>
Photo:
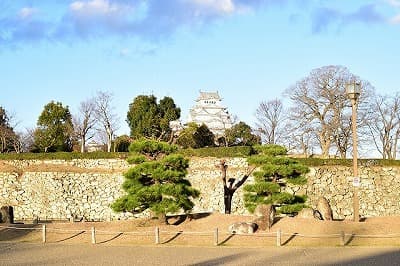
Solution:
<svg viewBox="0 0 400 266"><path fill-rule="evenodd" d="M253 125L326 65L400 91L399 33L400 0L1 0L0 106L23 130L51 100L74 113L109 91L129 134L137 95L174 98L185 120L199 90L219 91Z"/></svg>

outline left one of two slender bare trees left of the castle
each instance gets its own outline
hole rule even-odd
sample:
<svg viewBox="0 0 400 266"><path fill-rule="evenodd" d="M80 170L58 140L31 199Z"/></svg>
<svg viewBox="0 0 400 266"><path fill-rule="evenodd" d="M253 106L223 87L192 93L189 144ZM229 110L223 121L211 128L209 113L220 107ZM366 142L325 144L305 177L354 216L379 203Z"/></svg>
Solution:
<svg viewBox="0 0 400 266"><path fill-rule="evenodd" d="M95 108L96 99L87 99L80 103L79 113L73 117L75 136L79 139L81 152L85 152L86 142L94 136Z"/></svg>

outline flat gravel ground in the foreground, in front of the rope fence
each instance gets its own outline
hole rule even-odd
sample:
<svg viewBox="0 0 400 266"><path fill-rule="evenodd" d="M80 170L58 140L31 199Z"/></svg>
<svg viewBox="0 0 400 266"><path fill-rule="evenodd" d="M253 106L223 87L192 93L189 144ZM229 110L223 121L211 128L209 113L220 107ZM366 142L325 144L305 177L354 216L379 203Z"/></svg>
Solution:
<svg viewBox="0 0 400 266"><path fill-rule="evenodd" d="M398 248L127 247L0 243L0 265L399 265Z"/></svg>

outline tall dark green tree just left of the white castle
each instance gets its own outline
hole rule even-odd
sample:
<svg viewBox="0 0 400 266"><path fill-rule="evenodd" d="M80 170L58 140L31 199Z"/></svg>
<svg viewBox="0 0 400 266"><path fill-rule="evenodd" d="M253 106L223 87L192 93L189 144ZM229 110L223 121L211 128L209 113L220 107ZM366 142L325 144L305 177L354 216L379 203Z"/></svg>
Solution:
<svg viewBox="0 0 400 266"><path fill-rule="evenodd" d="M158 104L154 95L139 95L129 104L126 121L135 139L167 140L171 136L169 122L179 119L180 114L181 109L170 97L164 97Z"/></svg>

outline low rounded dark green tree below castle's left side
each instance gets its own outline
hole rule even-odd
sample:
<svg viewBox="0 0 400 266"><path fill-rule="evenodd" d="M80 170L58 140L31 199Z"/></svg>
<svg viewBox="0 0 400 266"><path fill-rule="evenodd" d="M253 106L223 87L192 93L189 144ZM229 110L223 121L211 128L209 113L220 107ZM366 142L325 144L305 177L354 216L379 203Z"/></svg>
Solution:
<svg viewBox="0 0 400 266"><path fill-rule="evenodd" d="M214 134L204 124L198 126L196 123L189 123L179 134L176 144L184 149L214 146Z"/></svg>

